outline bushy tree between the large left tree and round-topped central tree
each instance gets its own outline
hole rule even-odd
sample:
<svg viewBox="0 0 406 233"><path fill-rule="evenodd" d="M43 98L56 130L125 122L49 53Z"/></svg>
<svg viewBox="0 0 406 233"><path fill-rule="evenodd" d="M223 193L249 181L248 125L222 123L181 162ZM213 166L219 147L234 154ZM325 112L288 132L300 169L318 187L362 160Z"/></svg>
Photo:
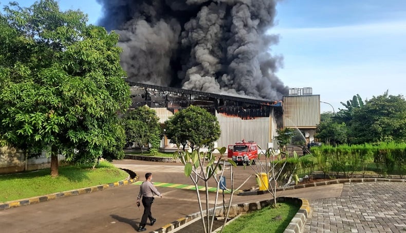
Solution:
<svg viewBox="0 0 406 233"><path fill-rule="evenodd" d="M129 111L124 119L127 142L137 142L141 147L141 154L142 146L151 143L152 150L157 153L162 130L155 110L142 106Z"/></svg>

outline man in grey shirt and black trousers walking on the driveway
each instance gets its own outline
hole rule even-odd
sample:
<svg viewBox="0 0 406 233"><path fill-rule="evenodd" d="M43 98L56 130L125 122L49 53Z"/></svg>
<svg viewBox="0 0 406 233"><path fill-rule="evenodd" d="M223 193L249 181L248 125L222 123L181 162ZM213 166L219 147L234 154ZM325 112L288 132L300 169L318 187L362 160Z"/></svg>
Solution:
<svg viewBox="0 0 406 233"><path fill-rule="evenodd" d="M151 226L154 225L156 222L156 219L152 217L151 214L151 205L154 202L154 194L162 197L162 195L158 192L154 184L151 182L152 180L152 173L146 173L145 174L145 181L142 182L140 186L140 193L138 194L137 197L137 205L140 205L140 199L142 197L142 205L144 206L144 214L142 215L141 218L141 223L140 227L138 228L138 231L144 231L146 230L145 224L146 224L146 219L150 219L151 221Z"/></svg>

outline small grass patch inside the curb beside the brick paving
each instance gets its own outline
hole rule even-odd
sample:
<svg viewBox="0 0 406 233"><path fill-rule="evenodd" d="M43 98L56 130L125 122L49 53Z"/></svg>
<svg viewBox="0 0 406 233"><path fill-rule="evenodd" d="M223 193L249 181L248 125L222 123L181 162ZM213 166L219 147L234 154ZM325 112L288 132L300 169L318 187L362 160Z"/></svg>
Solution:
<svg viewBox="0 0 406 233"><path fill-rule="evenodd" d="M299 208L293 203L278 203L278 208L265 207L235 219L223 233L283 232Z"/></svg>

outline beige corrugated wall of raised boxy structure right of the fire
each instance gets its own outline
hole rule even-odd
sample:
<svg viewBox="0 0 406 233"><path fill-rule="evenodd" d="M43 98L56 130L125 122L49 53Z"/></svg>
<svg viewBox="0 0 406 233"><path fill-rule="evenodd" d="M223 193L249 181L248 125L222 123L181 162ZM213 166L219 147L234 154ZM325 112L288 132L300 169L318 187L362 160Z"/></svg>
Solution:
<svg viewBox="0 0 406 233"><path fill-rule="evenodd" d="M320 95L283 97L283 125L316 128L320 124Z"/></svg>

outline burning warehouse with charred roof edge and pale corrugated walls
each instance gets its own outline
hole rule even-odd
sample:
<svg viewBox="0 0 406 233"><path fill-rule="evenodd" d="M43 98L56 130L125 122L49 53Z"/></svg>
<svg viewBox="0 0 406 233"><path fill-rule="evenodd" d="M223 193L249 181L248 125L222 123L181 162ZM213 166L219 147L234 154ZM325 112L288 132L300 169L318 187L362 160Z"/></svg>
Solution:
<svg viewBox="0 0 406 233"><path fill-rule="evenodd" d="M196 105L215 115L222 134L217 146L227 146L243 138L254 140L263 149L274 146L276 129L282 127L282 102L168 88L151 84L129 83L131 108L147 105L163 124L175 112ZM168 146L166 138L162 147Z"/></svg>

